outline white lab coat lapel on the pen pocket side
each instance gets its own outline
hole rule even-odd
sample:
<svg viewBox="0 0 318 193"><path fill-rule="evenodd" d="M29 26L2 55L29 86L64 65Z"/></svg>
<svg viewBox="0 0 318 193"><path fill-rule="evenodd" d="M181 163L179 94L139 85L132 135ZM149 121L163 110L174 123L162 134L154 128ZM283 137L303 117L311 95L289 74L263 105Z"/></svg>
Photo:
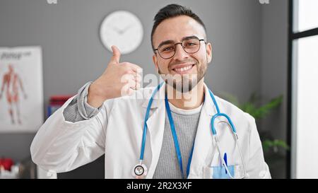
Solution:
<svg viewBox="0 0 318 193"><path fill-rule="evenodd" d="M216 114L216 107L208 93L208 87L204 84L205 101L201 110L194 152L189 172L189 178L202 178L203 167L206 165L208 153L213 150L213 136L211 131L211 118Z"/></svg>

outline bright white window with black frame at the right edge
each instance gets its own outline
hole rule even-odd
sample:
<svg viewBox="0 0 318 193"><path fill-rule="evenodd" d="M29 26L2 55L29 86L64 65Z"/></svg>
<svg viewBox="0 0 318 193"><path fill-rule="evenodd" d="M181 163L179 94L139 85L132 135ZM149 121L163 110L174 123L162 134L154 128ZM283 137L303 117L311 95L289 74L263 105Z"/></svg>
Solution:
<svg viewBox="0 0 318 193"><path fill-rule="evenodd" d="M318 178L318 1L290 1L289 115L291 174Z"/></svg>

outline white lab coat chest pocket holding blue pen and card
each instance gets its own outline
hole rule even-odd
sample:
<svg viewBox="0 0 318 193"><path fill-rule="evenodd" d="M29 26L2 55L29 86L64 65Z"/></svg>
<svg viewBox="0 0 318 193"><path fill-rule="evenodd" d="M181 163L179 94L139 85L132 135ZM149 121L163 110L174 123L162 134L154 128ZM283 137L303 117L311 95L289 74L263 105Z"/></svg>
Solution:
<svg viewBox="0 0 318 193"><path fill-rule="evenodd" d="M228 165L228 170L233 178L243 178L244 171L242 165ZM224 166L204 167L204 178L206 179L230 179L230 175Z"/></svg>

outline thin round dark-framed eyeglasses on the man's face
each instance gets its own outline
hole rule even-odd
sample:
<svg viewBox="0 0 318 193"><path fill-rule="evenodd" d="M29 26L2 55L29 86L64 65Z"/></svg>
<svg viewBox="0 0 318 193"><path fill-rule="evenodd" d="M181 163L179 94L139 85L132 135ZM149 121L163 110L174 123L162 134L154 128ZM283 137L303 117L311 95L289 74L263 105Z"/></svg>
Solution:
<svg viewBox="0 0 318 193"><path fill-rule="evenodd" d="M186 37L182 42L163 42L159 45L157 49L153 49L153 52L157 51L160 57L163 59L170 59L175 56L175 50L177 49L177 45L181 45L184 49L184 52L188 54L194 54L200 49L200 42L204 41L204 39L199 40L198 37ZM206 44L206 42L204 42Z"/></svg>

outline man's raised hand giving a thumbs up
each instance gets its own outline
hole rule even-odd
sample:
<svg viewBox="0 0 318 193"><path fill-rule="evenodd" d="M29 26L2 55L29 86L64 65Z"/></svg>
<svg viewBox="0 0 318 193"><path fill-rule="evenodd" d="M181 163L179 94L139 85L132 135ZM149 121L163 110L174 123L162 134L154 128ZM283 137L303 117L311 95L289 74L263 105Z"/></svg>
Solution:
<svg viewBox="0 0 318 193"><path fill-rule="evenodd" d="M129 62L119 63L120 52L112 46L112 59L104 73L88 88L87 102L100 107L105 100L131 95L140 88L141 67Z"/></svg>

